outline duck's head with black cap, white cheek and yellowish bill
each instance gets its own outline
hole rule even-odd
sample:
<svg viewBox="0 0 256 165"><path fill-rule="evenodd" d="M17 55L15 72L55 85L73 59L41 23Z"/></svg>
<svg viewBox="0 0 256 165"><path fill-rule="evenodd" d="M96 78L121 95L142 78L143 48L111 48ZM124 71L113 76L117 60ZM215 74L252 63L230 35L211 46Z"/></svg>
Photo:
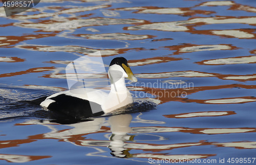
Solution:
<svg viewBox="0 0 256 165"><path fill-rule="evenodd" d="M110 79L120 79L121 77L130 79L134 82L137 78L134 76L132 70L130 69L127 60L123 57L115 58L110 63L109 68Z"/></svg>

